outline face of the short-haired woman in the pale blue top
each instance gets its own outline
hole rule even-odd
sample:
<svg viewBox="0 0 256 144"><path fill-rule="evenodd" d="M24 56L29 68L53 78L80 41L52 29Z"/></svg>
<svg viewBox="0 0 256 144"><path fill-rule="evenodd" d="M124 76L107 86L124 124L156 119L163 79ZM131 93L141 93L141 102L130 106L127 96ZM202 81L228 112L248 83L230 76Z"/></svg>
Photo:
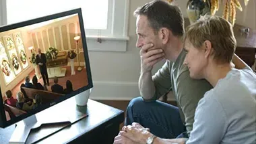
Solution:
<svg viewBox="0 0 256 144"><path fill-rule="evenodd" d="M195 48L189 40L185 40L185 51L187 54L184 64L189 68L189 76L195 79L203 78L203 69L207 65L203 50Z"/></svg>

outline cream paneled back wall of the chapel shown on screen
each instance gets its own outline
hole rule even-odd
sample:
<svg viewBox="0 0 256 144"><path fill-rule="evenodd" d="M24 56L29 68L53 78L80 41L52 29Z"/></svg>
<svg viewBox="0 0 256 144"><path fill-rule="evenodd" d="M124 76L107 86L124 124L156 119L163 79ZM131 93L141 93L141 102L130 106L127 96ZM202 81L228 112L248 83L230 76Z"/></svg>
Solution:
<svg viewBox="0 0 256 144"><path fill-rule="evenodd" d="M32 45L36 52L38 48L40 48L42 52L45 53L53 46L59 51L67 52L68 50L74 50L77 53L75 40L73 38L77 35L81 36L78 15L65 17L65 19L61 17L61 19L40 23L40 26L28 30L28 34L30 38L32 38ZM81 39L79 40L78 48L79 60L84 63ZM74 61L75 65L78 66L77 58L78 57L76 57Z"/></svg>

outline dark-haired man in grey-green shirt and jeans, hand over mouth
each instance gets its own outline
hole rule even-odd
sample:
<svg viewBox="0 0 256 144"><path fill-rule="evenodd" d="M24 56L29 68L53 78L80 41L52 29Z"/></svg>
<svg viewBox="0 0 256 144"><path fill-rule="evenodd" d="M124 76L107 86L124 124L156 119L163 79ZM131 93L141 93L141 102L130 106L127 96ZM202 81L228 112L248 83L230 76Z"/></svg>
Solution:
<svg viewBox="0 0 256 144"><path fill-rule="evenodd" d="M183 65L185 30L181 10L165 1L152 1L134 13L137 17L136 46L141 48L141 97L129 103L125 125L139 123L165 139L189 137L197 103L212 86L206 80L190 78L187 66ZM153 66L163 58L166 58L166 63L152 76ZM170 90L179 108L157 100ZM125 139L119 135L115 140L122 138ZM148 135L146 139L154 137Z"/></svg>

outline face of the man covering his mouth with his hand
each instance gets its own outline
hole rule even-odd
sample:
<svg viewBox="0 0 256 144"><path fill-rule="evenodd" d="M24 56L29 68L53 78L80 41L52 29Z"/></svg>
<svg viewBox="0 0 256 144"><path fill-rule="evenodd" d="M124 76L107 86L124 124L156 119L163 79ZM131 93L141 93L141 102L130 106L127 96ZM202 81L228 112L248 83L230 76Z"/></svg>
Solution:
<svg viewBox="0 0 256 144"><path fill-rule="evenodd" d="M161 48L162 44L158 33L150 27L148 18L144 15L138 15L136 21L137 43L136 47L141 48L145 44L154 44L154 48Z"/></svg>

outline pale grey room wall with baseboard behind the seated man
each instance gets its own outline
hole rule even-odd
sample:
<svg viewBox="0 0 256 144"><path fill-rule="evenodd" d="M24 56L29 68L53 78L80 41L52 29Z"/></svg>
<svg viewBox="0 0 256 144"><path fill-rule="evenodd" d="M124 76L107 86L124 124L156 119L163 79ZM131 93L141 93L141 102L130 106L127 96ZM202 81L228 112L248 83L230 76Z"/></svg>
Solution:
<svg viewBox="0 0 256 144"><path fill-rule="evenodd" d="M139 79L140 59L139 49L135 47L135 17L133 11L138 6L150 2L150 0L130 0L129 7L129 42L127 43L127 52L89 52L90 66L92 70L92 80L94 90L91 97L93 99L111 99L111 100L130 100L133 97L139 96L137 81ZM243 1L241 1L243 3ZM181 7L185 17L187 0L177 0L176 5ZM256 29L255 19L256 1L249 1L247 13L237 12L236 22ZM218 15L222 15L222 7ZM243 4L244 7L244 4ZM251 15L249 17L249 14ZM153 72L156 72L162 63L158 64Z"/></svg>

